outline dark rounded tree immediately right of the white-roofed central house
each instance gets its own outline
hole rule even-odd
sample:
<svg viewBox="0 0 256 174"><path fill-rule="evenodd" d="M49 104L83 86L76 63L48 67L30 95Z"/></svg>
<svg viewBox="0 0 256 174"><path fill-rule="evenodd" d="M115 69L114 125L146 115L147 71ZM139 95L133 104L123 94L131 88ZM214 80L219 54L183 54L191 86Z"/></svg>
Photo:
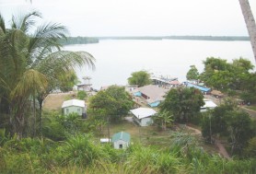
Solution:
<svg viewBox="0 0 256 174"><path fill-rule="evenodd" d="M169 90L160 110L173 113L175 122L189 122L204 106L204 96L194 87L178 87Z"/></svg>

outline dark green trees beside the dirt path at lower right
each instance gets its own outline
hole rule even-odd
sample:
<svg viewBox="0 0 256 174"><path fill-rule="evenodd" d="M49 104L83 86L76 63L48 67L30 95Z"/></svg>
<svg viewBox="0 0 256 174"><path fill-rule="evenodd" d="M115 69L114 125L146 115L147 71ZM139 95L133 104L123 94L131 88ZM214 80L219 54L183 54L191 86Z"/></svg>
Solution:
<svg viewBox="0 0 256 174"><path fill-rule="evenodd" d="M241 156L256 133L249 114L238 110L233 103L226 102L214 110L208 110L202 122L202 135L206 140L212 140L217 134L227 136L232 155Z"/></svg>

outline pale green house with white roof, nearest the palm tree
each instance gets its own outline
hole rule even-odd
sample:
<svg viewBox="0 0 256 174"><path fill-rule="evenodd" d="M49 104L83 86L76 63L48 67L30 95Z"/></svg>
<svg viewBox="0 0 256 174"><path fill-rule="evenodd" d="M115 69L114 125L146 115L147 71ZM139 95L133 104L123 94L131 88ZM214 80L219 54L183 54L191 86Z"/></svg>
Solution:
<svg viewBox="0 0 256 174"><path fill-rule="evenodd" d="M70 113L77 113L81 115L83 118L86 117L86 102L80 99L70 99L66 100L62 106L64 115L68 115Z"/></svg>

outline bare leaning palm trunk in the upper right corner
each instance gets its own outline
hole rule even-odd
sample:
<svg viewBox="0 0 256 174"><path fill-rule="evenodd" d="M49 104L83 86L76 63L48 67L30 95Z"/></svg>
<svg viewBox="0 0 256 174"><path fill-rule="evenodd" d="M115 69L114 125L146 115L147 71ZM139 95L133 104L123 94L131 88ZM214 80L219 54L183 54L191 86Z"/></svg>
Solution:
<svg viewBox="0 0 256 174"><path fill-rule="evenodd" d="M246 27L248 29L248 33L250 36L250 44L252 47L252 52L254 54L254 59L256 62L256 25L255 20L252 15L249 0L239 0L240 7L242 10L242 14L246 23Z"/></svg>

